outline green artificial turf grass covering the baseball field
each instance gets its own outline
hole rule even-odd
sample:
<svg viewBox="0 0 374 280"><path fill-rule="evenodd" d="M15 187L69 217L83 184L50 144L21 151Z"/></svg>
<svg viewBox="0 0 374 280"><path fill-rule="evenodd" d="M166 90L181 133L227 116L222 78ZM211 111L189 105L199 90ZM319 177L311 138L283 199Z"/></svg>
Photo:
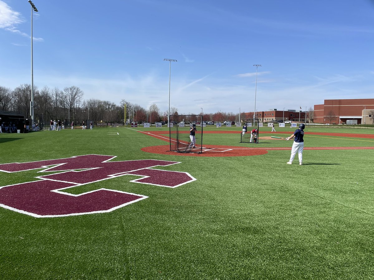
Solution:
<svg viewBox="0 0 374 280"><path fill-rule="evenodd" d="M307 127L305 147L321 149L305 149L302 166L297 156L286 164L292 141L239 143L241 127L207 127L220 133L203 134L203 143L288 149L227 157L143 152L168 143L139 131L160 130L168 136L168 128L0 134L0 164L108 155L116 156L110 162L180 162L151 169L196 179L173 188L139 184L129 174L61 191L146 196L104 213L37 218L0 207L0 279L374 279L374 149L354 149L374 146L373 129ZM270 130L261 128L260 137L294 131ZM43 169L0 171L0 186L58 173ZM15 186L0 189L2 201Z"/></svg>

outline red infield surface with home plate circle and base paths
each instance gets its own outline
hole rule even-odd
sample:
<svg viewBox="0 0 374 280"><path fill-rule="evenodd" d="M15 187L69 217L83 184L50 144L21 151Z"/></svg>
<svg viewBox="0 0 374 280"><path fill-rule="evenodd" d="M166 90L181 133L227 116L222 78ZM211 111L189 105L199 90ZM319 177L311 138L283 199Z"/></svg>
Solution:
<svg viewBox="0 0 374 280"><path fill-rule="evenodd" d="M166 131L139 131L140 133L148 134L149 136L155 137L169 142L169 136L165 135ZM239 133L238 131L204 131L204 133ZM292 132L290 132L292 133ZM278 133L272 133L278 134ZM284 134L284 132L279 132L279 134ZM310 135L324 135L324 136L338 136L338 137L349 137L349 138L368 138L374 139L374 135L370 134L349 134L349 133L310 133ZM271 138L271 136L259 137L263 140L282 140L278 138ZM239 147L239 146L219 146L219 145L203 145L203 152L198 153L177 153L170 151L169 145L151 146L144 147L141 150L148 153L157 153L162 155L180 155L180 156L257 156L264 155L269 150L291 150L291 147L279 147L279 148L266 148L266 147ZM374 149L374 147L304 147L305 150L346 150L346 149Z"/></svg>

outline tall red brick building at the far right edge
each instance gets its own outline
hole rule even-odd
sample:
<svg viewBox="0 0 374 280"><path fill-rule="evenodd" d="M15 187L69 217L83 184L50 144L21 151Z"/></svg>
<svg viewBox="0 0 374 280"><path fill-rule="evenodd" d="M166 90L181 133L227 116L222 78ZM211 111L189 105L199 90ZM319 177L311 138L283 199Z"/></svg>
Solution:
<svg viewBox="0 0 374 280"><path fill-rule="evenodd" d="M374 99L325 99L314 105L313 122L319 124L371 124Z"/></svg>

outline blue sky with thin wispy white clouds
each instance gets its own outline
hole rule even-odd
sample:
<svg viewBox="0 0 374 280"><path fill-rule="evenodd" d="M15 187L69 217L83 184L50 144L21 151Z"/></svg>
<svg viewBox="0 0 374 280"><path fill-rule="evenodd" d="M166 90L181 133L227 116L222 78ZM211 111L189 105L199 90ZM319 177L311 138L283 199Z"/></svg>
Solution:
<svg viewBox="0 0 374 280"><path fill-rule="evenodd" d="M232 2L232 3L231 3ZM34 85L180 113L373 98L373 0L35 0ZM31 6L0 0L0 85L31 83Z"/></svg>

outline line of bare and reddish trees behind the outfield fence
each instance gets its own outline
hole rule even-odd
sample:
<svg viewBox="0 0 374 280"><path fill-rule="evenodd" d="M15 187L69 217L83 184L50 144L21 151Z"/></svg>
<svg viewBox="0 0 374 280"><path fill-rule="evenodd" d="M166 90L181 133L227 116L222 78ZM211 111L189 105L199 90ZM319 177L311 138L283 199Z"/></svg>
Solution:
<svg viewBox="0 0 374 280"><path fill-rule="evenodd" d="M34 116L36 121L45 122L49 120L80 121L90 120L93 122L159 122L168 120L168 111L160 111L156 104L144 108L138 104L132 104L125 99L120 100L119 105L99 99L83 98L83 91L76 86L58 87L47 86L39 89L34 86ZM21 84L11 89L0 86L0 111L21 113L25 118L30 118L31 85ZM126 117L125 117L126 110ZM178 113L175 107L170 108L170 115L201 115L202 112ZM236 121L238 114L218 111L216 113L203 113L206 121ZM245 119L245 113L241 119Z"/></svg>

